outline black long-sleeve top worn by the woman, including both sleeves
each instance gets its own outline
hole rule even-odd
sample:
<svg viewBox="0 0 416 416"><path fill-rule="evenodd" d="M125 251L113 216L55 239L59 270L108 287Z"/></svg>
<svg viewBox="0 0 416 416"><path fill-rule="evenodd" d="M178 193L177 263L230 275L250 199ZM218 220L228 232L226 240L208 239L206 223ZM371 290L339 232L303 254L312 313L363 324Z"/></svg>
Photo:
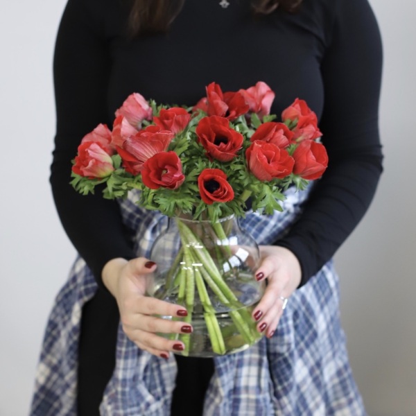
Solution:
<svg viewBox="0 0 416 416"><path fill-rule="evenodd" d="M57 130L51 184L64 229L98 282L105 263L132 258L119 205L69 185L71 159L98 123L132 92L195 104L215 81L223 91L266 82L272 113L299 97L320 120L329 167L302 216L276 242L302 266L302 284L361 220L381 174L378 130L381 40L367 0L304 0L254 18L250 1L187 0L167 34L126 36L122 0L69 0L55 46Z"/></svg>

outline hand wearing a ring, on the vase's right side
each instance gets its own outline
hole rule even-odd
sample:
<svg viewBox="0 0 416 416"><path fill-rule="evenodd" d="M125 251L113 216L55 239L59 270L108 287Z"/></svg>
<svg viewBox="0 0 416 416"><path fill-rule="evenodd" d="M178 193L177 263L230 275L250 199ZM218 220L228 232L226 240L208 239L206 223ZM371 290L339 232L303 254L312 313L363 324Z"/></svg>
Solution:
<svg viewBox="0 0 416 416"><path fill-rule="evenodd" d="M252 316L259 321L258 331L271 338L283 313L284 298L290 297L299 286L302 271L291 250L278 245L261 245L259 249L261 265L256 278L259 281L267 279L268 285Z"/></svg>

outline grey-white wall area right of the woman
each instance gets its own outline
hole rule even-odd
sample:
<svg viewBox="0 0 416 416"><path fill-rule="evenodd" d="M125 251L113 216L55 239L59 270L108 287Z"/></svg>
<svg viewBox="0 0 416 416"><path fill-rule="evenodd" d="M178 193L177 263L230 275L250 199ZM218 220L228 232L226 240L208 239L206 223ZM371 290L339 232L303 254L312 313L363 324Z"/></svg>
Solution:
<svg viewBox="0 0 416 416"><path fill-rule="evenodd" d="M414 0L370 0L381 26L385 172L336 256L341 313L370 415L416 415L416 27Z"/></svg>

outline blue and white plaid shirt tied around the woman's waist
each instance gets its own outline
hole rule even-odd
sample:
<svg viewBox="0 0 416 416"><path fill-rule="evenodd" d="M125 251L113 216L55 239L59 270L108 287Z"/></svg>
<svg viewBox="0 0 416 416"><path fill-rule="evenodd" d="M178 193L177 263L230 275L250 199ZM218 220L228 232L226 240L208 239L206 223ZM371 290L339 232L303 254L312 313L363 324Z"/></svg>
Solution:
<svg viewBox="0 0 416 416"><path fill-rule="evenodd" d="M250 213L241 225L259 244L284 234L300 213L307 192L288 190L284 211ZM137 254L150 247L166 218L121 202L125 223L137 230ZM51 312L37 369L31 416L76 415L78 337L83 304L96 283L83 259L74 264ZM214 358L205 396L205 416L363 416L340 327L338 277L332 263L292 296L272 339ZM168 416L176 362L136 347L119 327L116 367L101 403L103 416ZM193 415L191 415L193 416Z"/></svg>

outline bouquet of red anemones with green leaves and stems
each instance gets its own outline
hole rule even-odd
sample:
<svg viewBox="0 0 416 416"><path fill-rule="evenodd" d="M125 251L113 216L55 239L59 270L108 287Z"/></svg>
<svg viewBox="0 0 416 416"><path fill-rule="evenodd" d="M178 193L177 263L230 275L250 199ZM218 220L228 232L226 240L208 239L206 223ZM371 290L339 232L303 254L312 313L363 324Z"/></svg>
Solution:
<svg viewBox="0 0 416 416"><path fill-rule="evenodd" d="M277 121L270 114L275 93L266 83L238 92L223 92L211 83L206 93L193 107L161 105L138 93L128 96L116 110L112 130L100 124L82 139L71 184L84 195L104 184L103 196L110 199L138 190L141 207L176 218L180 245L162 292L173 290L175 302L191 313L198 298L212 350L225 354L224 330L213 304L234 306L229 318L246 343L258 336L227 281L236 274L229 261L236 247L225 243L229 230L221 220L245 216L248 201L262 214L281 211L284 191L291 185L304 189L318 179L328 158L317 117L305 101L296 98ZM196 227L181 220L185 216L213 226L202 234L220 241L219 252L218 244L215 250L202 244ZM201 263L205 271L196 271ZM189 339L182 340L189 352Z"/></svg>

